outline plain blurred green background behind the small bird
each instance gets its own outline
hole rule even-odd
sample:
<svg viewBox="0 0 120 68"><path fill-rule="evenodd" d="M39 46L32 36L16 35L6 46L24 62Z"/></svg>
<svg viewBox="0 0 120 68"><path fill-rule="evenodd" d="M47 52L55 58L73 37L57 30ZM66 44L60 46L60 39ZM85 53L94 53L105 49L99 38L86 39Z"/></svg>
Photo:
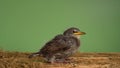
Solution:
<svg viewBox="0 0 120 68"><path fill-rule="evenodd" d="M0 49L36 52L69 27L81 52L120 52L120 0L0 0Z"/></svg>

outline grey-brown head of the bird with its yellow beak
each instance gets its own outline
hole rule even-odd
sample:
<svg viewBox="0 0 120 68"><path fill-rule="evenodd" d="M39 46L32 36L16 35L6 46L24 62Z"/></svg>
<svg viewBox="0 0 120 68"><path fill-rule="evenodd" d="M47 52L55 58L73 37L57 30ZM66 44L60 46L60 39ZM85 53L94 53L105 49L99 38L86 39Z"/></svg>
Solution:
<svg viewBox="0 0 120 68"><path fill-rule="evenodd" d="M67 36L73 36L73 37L76 37L77 39L79 39L81 35L84 35L86 33L81 32L78 28L72 27L72 28L69 28L66 31L64 31L63 34L67 35Z"/></svg>

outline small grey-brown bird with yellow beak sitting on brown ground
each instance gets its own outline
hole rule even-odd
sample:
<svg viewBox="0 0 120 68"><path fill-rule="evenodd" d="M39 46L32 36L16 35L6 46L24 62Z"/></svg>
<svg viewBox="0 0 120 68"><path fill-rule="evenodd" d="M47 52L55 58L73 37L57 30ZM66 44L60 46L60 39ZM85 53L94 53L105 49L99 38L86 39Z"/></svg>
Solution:
<svg viewBox="0 0 120 68"><path fill-rule="evenodd" d="M68 57L76 53L80 47L80 36L86 34L79 28L71 27L48 41L38 52L29 58L42 56L49 63L65 62Z"/></svg>

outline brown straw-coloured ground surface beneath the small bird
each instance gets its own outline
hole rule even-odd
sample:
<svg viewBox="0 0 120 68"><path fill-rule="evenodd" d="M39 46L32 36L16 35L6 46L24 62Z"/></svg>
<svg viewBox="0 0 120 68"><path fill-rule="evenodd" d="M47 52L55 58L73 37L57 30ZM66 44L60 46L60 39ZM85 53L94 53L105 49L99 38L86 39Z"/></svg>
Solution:
<svg viewBox="0 0 120 68"><path fill-rule="evenodd" d="M70 63L46 63L30 53L0 51L0 68L120 68L120 53L76 53Z"/></svg>

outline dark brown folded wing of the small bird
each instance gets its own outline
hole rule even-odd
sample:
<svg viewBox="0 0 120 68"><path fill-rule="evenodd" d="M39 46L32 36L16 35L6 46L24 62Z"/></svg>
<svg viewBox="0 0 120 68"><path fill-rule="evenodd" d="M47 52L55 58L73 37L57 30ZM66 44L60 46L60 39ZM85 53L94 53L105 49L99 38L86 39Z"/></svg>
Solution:
<svg viewBox="0 0 120 68"><path fill-rule="evenodd" d="M71 48L72 45L75 45L76 41L72 37L64 36L64 35L58 35L48 43L40 50L41 53L58 53L58 52L64 52Z"/></svg>

